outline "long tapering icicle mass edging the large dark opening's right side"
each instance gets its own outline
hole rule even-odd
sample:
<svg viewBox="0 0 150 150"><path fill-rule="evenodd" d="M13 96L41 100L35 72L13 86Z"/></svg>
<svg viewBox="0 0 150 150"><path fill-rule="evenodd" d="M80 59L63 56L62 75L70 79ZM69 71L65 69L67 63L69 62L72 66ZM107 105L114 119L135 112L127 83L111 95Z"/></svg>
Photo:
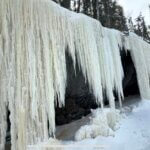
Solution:
<svg viewBox="0 0 150 150"><path fill-rule="evenodd" d="M75 32L74 38L78 64L97 102L103 107L100 65L92 19L85 15L80 15L72 19L72 21L74 21L73 31Z"/></svg>

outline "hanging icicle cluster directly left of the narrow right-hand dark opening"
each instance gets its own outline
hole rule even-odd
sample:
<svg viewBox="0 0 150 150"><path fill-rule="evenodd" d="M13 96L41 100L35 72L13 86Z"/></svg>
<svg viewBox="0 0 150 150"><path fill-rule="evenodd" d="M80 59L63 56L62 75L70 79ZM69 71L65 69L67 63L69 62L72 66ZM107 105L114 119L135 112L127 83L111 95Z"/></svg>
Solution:
<svg viewBox="0 0 150 150"><path fill-rule="evenodd" d="M110 30L107 28L104 28L104 32L105 32L104 51L106 53L105 60L108 60L108 64L106 65L106 67L109 67L108 70L106 70L107 72L105 75L106 86L107 86L106 89L109 92L108 99L110 100L110 103L114 103L113 90L116 90L118 93L120 106L122 106L121 103L121 98L123 98L122 80L124 77L121 57L120 57L120 48L122 47L122 41L121 41L122 34L119 31L112 30L112 29ZM112 102L111 99L113 100Z"/></svg>

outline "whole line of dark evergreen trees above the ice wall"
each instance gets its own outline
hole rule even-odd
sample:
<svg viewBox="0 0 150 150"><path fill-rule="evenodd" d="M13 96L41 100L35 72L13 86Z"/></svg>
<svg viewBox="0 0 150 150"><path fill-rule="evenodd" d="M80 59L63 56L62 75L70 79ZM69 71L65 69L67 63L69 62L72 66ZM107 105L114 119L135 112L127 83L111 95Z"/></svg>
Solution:
<svg viewBox="0 0 150 150"><path fill-rule="evenodd" d="M134 32L150 43L150 26L145 23L142 13L133 19L126 18L123 7L116 0L54 0L61 6L84 13L99 20L104 27L114 28L124 33Z"/></svg>

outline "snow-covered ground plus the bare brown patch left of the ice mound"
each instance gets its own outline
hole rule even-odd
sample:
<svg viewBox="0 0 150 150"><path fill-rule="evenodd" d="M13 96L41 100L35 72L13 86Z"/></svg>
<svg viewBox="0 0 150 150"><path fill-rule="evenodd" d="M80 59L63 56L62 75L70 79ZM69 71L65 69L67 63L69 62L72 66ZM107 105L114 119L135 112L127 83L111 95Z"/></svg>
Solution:
<svg viewBox="0 0 150 150"><path fill-rule="evenodd" d="M114 136L73 141L75 132L89 122L87 118L90 116L87 116L58 129L61 136L57 133L57 138L67 141L51 139L45 144L51 147L50 150L150 150L150 100L129 98L124 101L123 106L123 117Z"/></svg>

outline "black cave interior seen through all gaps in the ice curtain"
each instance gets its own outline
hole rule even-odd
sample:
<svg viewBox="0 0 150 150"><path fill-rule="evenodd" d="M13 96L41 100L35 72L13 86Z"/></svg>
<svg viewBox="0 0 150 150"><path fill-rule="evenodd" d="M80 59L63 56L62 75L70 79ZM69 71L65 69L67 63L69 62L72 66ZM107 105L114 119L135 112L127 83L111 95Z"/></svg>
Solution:
<svg viewBox="0 0 150 150"><path fill-rule="evenodd" d="M124 70L123 91L124 96L139 95L139 88L137 83L137 76L129 51L121 51L121 61ZM83 116L88 115L91 109L96 109L95 97L89 90L88 83L82 71L76 65L76 72L74 71L73 62L68 53L66 53L66 67L67 67L67 87L65 107L59 108L56 106L56 125L64 125L72 121L81 119ZM104 95L104 105L108 105L108 100ZM118 100L117 94L114 91L116 101Z"/></svg>

